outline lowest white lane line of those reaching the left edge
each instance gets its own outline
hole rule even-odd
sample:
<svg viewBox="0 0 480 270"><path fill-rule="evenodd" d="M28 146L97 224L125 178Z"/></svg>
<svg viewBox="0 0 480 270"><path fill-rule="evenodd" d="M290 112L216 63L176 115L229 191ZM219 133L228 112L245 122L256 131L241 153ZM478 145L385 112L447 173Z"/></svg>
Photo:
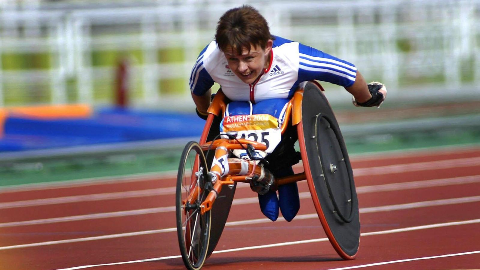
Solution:
<svg viewBox="0 0 480 270"><path fill-rule="evenodd" d="M476 202L476 201L480 201L480 196L461 197L461 198L456 198L456 199L444 199L444 200L434 200L434 201L424 201L424 202L415 202L415 203L408 203L408 204L389 205L389 206L383 206L383 207L361 208L360 213L373 213L373 212L382 212L382 211L413 209L413 208L421 208L421 207L431 207L431 206L442 206L442 205L450 205L450 204L469 203L469 202ZM299 216L295 217L296 220L306 220L306 219L315 219L315 218L318 218L316 213L315 214L304 214L304 215L299 215ZM284 219L279 219L277 221L285 221L285 220ZM248 221L227 222L225 224L225 226L238 226L238 225L245 225L245 224L258 224L258 223L267 223L267 222L271 222L271 221L269 219L263 218L263 219L254 219L254 220L248 220ZM149 231L132 232L132 233L116 233L116 234L107 234L107 235L74 238L74 239L66 239L66 240L47 241L47 242L22 244L22 245L0 246L0 250L24 248L24 247L30 247L30 246L57 245L57 244L74 243L74 242L85 242L85 241L111 239L111 238L128 237L128 236L137 236L137 235L152 234L152 233L170 233L170 232L175 232L176 230L177 230L176 228L166 228L166 229L160 229L160 230L149 230Z"/></svg>

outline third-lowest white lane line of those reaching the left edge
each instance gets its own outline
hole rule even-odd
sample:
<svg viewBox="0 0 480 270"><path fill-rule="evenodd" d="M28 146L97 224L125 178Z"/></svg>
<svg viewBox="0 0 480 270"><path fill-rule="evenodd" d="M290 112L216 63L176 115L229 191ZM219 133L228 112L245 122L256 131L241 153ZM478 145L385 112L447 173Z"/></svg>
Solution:
<svg viewBox="0 0 480 270"><path fill-rule="evenodd" d="M413 182L406 182L406 183L361 186L361 187L357 187L357 193L360 194L360 193L367 193L372 191L388 191L388 190L411 189L411 188L432 187L432 186L444 186L444 185L451 185L451 184L468 184L468 183L476 183L476 182L480 182L480 175L433 179L433 180L424 180L424 181L413 181ZM249 185L237 185L237 188L248 187L248 186ZM164 187L164 188L132 190L132 191L114 192L114 193L98 193L98 194L79 195L79 196L65 196L65 197L57 197L57 198L3 202L3 203L0 203L0 209L32 207L32 206L61 204L61 203L74 203L74 202L83 202L83 201L122 199L122 198L133 198L133 197L144 197L144 196L171 195L171 194L175 194L175 187ZM310 194L310 193L307 192L306 194ZM300 196L305 196L305 195L304 193L300 193ZM243 199L239 199L239 201L240 200L243 200ZM252 198L246 198L246 200L250 201L252 200Z"/></svg>

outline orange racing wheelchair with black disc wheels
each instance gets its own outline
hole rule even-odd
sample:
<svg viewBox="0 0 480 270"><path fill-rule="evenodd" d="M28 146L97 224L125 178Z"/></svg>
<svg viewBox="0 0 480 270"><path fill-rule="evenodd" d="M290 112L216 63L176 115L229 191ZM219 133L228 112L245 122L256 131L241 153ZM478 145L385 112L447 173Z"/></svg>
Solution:
<svg viewBox="0 0 480 270"><path fill-rule="evenodd" d="M225 227L238 182L260 190L306 180L324 231L338 255L354 259L360 244L360 218L353 172L340 128L317 82L300 85L286 105L281 142L263 157L268 141L237 133L220 135L226 97L218 91L208 109L200 143L189 142L181 155L176 186L176 218L185 266L201 269ZM300 153L285 155L298 140ZM245 157L236 158L241 150ZM295 150L294 150L295 151ZM282 155L278 159L278 155ZM289 158L285 158L285 157ZM280 161L279 161L280 160ZM273 179L266 168L302 161L304 172Z"/></svg>

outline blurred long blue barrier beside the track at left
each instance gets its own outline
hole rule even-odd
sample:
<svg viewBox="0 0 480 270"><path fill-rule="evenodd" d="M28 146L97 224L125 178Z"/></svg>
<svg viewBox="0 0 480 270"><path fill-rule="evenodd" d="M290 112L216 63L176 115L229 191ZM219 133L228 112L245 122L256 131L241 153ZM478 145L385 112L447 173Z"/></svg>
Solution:
<svg viewBox="0 0 480 270"><path fill-rule="evenodd" d="M195 114L119 108L102 108L90 118L77 119L9 116L0 151L200 137L204 124Z"/></svg>

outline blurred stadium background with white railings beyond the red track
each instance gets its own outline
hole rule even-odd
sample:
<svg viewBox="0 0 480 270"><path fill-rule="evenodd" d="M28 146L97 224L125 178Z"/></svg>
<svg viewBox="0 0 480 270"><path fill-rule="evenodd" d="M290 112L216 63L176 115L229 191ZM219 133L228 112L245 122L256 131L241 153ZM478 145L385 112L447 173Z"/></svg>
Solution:
<svg viewBox="0 0 480 270"><path fill-rule="evenodd" d="M350 152L480 140L480 0L0 0L2 141L10 146L0 168L12 179L2 185L174 169L178 147L201 132L187 83L192 63L221 14L242 3L263 13L274 35L351 61L387 85L388 100L374 111L325 84ZM129 106L119 111L121 64ZM86 105L83 117L95 121L68 133L60 120L40 117L44 110L9 109L65 104ZM95 133L93 122L119 122L122 134L135 135L72 134ZM197 126L180 134L185 123ZM103 128L108 137L112 125Z"/></svg>

